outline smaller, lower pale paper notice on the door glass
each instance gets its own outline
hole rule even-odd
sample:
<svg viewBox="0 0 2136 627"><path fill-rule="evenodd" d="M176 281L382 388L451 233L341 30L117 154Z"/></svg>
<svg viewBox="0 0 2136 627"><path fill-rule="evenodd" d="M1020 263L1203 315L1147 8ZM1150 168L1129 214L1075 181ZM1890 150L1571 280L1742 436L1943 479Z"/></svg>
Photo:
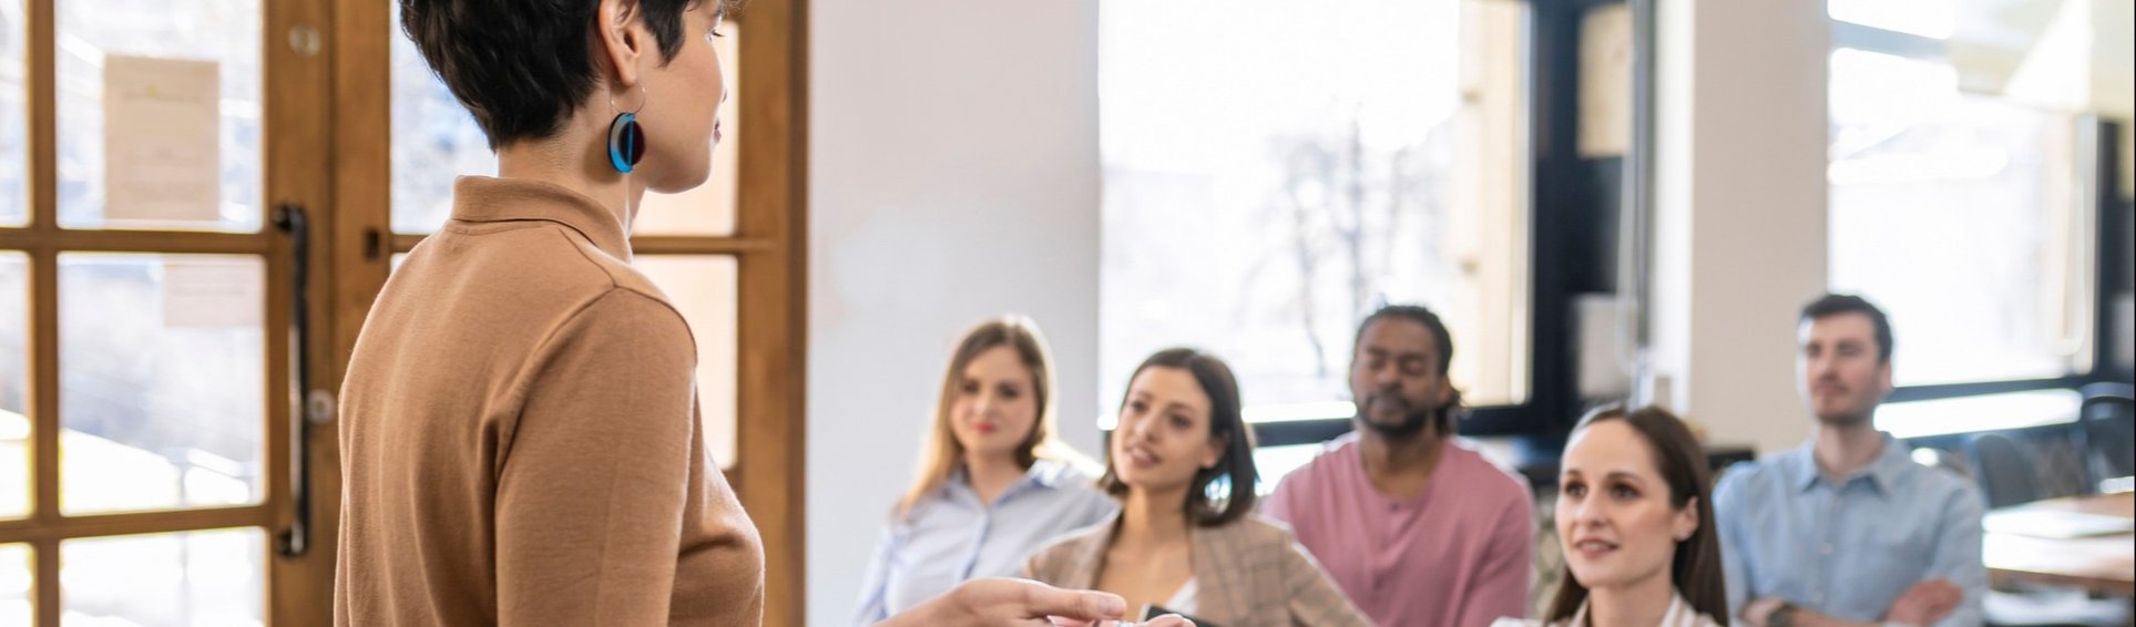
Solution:
<svg viewBox="0 0 2136 627"><path fill-rule="evenodd" d="M162 326L256 326L267 307L265 284L252 258L167 258Z"/></svg>

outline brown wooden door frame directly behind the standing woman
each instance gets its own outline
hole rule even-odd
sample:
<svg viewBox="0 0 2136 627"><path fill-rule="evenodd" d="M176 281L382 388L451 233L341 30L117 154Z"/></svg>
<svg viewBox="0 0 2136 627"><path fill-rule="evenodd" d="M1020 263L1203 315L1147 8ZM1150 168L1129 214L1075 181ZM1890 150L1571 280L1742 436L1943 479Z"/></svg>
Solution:
<svg viewBox="0 0 2136 627"><path fill-rule="evenodd" d="M49 0L47 0L49 2ZM391 273L393 252L421 237L391 230L391 11L378 0L333 2L333 207L318 260L335 279L316 337L331 363L316 371L337 392L363 316ZM735 493L765 544L765 625L805 625L807 354L807 2L750 0L737 11L739 117L735 235L639 237L645 254L731 254L737 262ZM327 429L329 435L333 429ZM314 444L314 476L340 476L333 441ZM337 512L340 486L314 491ZM331 552L331 546L323 546ZM331 578L323 599L331 599ZM325 616L325 614L320 614ZM310 623L301 623L310 625Z"/></svg>

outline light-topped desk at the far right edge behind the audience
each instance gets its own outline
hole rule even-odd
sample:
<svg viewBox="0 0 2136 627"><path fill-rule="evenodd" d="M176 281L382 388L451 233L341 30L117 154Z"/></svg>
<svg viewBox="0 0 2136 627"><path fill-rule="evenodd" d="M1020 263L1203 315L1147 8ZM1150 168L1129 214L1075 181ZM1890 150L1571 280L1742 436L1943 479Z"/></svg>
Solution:
<svg viewBox="0 0 2136 627"><path fill-rule="evenodd" d="M2068 497L1989 512L2085 512L2136 518L2136 493ZM2093 593L2136 595L2136 537L2029 537L1986 533L1982 561L1989 580L2078 586Z"/></svg>

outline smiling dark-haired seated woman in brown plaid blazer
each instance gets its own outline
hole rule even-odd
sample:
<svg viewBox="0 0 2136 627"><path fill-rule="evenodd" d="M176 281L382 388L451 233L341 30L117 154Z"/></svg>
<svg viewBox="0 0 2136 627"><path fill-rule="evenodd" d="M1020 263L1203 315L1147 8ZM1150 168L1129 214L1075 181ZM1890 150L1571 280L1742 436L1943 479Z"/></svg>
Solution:
<svg viewBox="0 0 2136 627"><path fill-rule="evenodd" d="M1100 486L1119 516L1034 554L1027 576L1224 627L1371 625L1290 529L1250 516L1254 433L1224 360L1188 348L1143 360L1109 450Z"/></svg>

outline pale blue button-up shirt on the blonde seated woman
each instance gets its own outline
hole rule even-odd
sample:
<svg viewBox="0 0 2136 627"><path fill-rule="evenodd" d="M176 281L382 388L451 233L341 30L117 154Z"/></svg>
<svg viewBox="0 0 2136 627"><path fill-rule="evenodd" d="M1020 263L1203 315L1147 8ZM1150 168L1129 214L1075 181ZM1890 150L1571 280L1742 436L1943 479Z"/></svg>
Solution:
<svg viewBox="0 0 2136 627"><path fill-rule="evenodd" d="M963 580L1021 574L1023 561L1055 537L1119 512L1094 480L1074 465L1040 459L993 503L980 503L957 469L882 529L854 621L878 623Z"/></svg>

